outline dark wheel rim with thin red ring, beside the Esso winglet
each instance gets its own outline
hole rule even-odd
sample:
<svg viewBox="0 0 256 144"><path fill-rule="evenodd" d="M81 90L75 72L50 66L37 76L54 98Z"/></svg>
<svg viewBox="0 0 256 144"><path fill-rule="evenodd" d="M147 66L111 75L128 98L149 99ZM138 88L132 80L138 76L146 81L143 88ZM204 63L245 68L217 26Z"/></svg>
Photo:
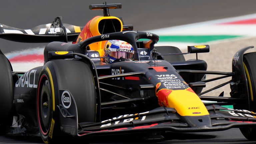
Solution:
<svg viewBox="0 0 256 144"><path fill-rule="evenodd" d="M50 129L52 118L51 87L47 76L42 75L39 81L37 108L38 121L41 132L46 135Z"/></svg>

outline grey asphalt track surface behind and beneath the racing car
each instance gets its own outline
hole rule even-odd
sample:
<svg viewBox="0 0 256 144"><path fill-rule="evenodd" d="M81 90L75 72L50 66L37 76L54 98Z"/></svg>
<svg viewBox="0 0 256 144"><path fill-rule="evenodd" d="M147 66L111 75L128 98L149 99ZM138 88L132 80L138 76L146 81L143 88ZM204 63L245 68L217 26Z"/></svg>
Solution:
<svg viewBox="0 0 256 144"><path fill-rule="evenodd" d="M31 28L40 24L51 23L56 16L62 16L64 23L85 25L102 11L90 11L88 5L100 4L102 1L61 1L61 0L2 0L0 1L0 23L18 27ZM147 1L107 1L122 3L123 8L110 10L110 14L121 16L125 24L133 24L135 30L144 31L175 25L189 24L226 17L234 17L256 13L254 0L147 0ZM24 48L43 47L45 44L23 44L0 40L0 48L4 53ZM142 143L255 143L247 141L239 129L206 133L167 133L162 142L142 141ZM40 137L6 135L0 136L1 143L42 143ZM98 138L92 143L141 143L127 136L125 138Z"/></svg>

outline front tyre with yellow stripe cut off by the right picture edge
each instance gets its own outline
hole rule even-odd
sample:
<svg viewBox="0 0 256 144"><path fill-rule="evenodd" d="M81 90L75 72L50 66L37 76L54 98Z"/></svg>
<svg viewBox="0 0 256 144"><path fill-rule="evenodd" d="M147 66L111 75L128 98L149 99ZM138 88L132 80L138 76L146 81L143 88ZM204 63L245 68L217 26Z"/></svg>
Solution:
<svg viewBox="0 0 256 144"><path fill-rule="evenodd" d="M247 78L250 111L256 111L256 52L246 53L243 56L244 69ZM235 107L236 108L236 107ZM256 128L240 128L248 140L256 140Z"/></svg>

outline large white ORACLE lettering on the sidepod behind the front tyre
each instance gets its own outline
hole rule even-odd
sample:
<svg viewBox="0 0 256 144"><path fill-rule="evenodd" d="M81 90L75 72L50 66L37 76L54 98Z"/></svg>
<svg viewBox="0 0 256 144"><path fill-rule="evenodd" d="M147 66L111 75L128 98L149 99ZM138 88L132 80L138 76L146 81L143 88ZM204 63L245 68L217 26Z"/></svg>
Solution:
<svg viewBox="0 0 256 144"><path fill-rule="evenodd" d="M15 84L15 87L37 88L35 83L36 70L26 72Z"/></svg>

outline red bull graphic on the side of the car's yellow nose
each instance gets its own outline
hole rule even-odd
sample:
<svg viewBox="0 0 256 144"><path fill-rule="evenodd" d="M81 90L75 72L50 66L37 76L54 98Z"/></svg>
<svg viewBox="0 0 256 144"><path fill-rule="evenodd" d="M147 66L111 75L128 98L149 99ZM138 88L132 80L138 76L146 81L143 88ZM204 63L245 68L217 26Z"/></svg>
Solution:
<svg viewBox="0 0 256 144"><path fill-rule="evenodd" d="M169 105L168 96L171 94L172 90L169 90L169 89L160 89L160 90L158 90L158 88L160 86L161 86L161 83L158 83L156 85L156 96L158 98L158 104L160 106L167 107Z"/></svg>

